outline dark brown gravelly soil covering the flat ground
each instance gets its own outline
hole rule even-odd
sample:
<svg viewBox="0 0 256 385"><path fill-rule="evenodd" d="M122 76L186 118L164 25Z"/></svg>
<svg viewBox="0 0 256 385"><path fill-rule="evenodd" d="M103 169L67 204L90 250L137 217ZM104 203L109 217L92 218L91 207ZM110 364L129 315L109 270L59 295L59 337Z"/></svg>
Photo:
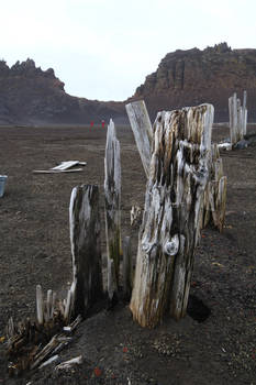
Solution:
<svg viewBox="0 0 256 385"><path fill-rule="evenodd" d="M249 128L254 130L254 128ZM122 151L123 235L130 209L143 206L145 176L129 128L118 128ZM213 130L214 140L229 130ZM73 187L103 184L105 129L0 128L0 174L8 175L0 199L0 338L9 317L35 314L35 286L66 296L71 280L68 207ZM133 322L127 304L85 320L60 361L84 363L56 372L55 364L9 377L0 343L0 384L256 384L256 146L223 152L227 175L226 223L222 234L205 229L196 252L188 315L168 317L154 330ZM87 162L74 174L36 175L62 161ZM105 253L103 199L102 252ZM2 341L2 339L1 339Z"/></svg>

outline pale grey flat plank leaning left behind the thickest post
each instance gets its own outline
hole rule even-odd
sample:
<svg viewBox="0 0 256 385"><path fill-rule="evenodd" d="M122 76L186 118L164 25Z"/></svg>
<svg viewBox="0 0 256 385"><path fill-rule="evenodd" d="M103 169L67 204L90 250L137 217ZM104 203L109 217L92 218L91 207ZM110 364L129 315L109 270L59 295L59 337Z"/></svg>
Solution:
<svg viewBox="0 0 256 385"><path fill-rule="evenodd" d="M152 123L144 100L133 101L125 106L134 139L141 155L142 164L149 176L151 147L153 140Z"/></svg>

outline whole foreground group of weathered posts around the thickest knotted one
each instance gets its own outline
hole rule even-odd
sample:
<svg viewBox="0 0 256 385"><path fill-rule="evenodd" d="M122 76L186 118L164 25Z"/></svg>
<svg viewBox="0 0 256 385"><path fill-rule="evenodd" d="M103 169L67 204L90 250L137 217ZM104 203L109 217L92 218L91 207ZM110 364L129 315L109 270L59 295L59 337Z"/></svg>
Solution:
<svg viewBox="0 0 256 385"><path fill-rule="evenodd" d="M147 176L145 207L133 274L130 238L121 240L120 144L111 120L104 158L107 292L112 301L122 287L134 319L155 327L167 311L176 319L186 315L200 231L209 221L223 228L226 177L211 143L211 105L159 112L153 128L144 101L126 111ZM70 240L70 314L85 316L103 296L97 186L73 190Z"/></svg>

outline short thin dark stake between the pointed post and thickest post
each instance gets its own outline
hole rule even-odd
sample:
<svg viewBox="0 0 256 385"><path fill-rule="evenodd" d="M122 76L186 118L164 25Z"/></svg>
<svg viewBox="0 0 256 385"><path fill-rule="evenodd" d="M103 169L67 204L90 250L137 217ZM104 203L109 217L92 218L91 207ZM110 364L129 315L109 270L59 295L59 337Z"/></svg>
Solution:
<svg viewBox="0 0 256 385"><path fill-rule="evenodd" d="M123 293L124 297L130 299L133 288L133 265L131 252L131 238L123 240Z"/></svg>

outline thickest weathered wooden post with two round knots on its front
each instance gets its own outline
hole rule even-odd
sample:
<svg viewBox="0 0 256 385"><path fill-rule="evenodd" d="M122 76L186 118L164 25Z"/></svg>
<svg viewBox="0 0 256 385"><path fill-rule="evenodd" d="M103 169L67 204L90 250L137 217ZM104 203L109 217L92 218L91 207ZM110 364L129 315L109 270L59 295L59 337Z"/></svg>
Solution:
<svg viewBox="0 0 256 385"><path fill-rule="evenodd" d="M130 308L143 327L185 316L208 182L213 107L159 112Z"/></svg>

